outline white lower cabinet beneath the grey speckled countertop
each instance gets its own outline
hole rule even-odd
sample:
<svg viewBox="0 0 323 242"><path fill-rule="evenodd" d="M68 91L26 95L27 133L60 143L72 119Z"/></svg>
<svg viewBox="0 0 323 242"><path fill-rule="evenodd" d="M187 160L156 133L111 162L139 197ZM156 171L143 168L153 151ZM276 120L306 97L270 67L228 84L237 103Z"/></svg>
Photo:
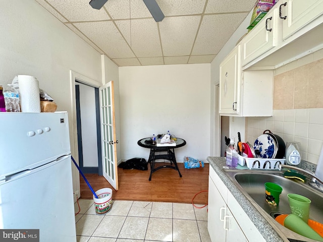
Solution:
<svg viewBox="0 0 323 242"><path fill-rule="evenodd" d="M211 166L208 178L207 229L212 242L265 242Z"/></svg>

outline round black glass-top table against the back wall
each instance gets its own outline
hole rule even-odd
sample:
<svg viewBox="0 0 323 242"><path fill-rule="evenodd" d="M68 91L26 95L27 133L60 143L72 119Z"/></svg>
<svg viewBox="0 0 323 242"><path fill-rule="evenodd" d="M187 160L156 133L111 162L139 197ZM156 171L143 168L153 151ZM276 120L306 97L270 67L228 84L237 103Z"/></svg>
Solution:
<svg viewBox="0 0 323 242"><path fill-rule="evenodd" d="M151 141L151 138L144 138L137 142L139 146L150 149L148 158L148 163L150 164L149 180L151 180L152 173L161 168L175 169L178 171L180 177L182 177L176 162L174 149L183 147L186 145L186 141L181 138L177 138L177 140L175 140L176 146L156 146L149 141Z"/></svg>

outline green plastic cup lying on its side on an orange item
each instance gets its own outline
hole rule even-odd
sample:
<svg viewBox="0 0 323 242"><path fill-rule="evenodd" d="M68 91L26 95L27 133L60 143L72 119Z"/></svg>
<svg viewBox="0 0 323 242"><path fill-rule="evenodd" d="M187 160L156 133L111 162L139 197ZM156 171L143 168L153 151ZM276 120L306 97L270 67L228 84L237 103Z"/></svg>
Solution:
<svg viewBox="0 0 323 242"><path fill-rule="evenodd" d="M284 220L284 226L295 233L303 235L307 238L323 241L323 238L312 229L307 223L303 221L299 216L292 213L288 215Z"/></svg>

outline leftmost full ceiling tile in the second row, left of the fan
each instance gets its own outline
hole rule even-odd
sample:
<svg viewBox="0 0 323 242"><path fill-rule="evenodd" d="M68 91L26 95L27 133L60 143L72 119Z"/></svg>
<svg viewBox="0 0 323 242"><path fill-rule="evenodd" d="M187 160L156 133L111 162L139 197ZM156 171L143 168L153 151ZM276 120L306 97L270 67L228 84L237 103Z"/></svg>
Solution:
<svg viewBox="0 0 323 242"><path fill-rule="evenodd" d="M135 57L113 22L74 23L74 25L111 58Z"/></svg>

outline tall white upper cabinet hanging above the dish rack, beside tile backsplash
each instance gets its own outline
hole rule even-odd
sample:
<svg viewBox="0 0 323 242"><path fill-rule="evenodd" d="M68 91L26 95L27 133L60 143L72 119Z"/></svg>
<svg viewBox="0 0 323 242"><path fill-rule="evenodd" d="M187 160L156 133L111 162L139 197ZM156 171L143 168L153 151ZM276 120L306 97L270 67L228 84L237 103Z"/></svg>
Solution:
<svg viewBox="0 0 323 242"><path fill-rule="evenodd" d="M220 115L272 116L273 81L272 70L242 72L237 45L220 64Z"/></svg>

